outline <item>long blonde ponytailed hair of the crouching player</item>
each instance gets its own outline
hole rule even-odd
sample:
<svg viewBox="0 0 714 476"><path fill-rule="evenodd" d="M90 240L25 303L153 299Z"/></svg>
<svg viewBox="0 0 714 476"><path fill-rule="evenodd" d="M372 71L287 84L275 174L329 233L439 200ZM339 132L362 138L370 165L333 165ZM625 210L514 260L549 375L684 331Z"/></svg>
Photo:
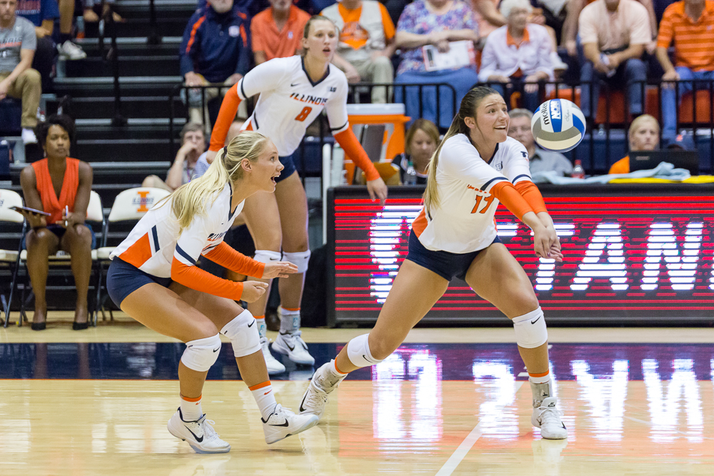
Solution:
<svg viewBox="0 0 714 476"><path fill-rule="evenodd" d="M203 176L176 188L171 199L171 212L178 221L178 235L191 225L193 217L206 213L206 206L218 197L226 183L243 177L243 159L255 162L268 139L261 133L243 131L228 146L216 153L216 158Z"/></svg>

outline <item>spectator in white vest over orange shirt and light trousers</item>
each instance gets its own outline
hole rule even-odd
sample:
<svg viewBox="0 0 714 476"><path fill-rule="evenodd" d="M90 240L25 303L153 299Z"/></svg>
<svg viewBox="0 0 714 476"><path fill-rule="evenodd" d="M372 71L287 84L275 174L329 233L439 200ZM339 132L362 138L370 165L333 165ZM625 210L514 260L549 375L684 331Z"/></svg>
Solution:
<svg viewBox="0 0 714 476"><path fill-rule="evenodd" d="M321 11L340 30L340 42L332 60L348 81L391 83L391 57L396 50L394 24L377 0L342 0ZM387 88L372 88L372 103L386 103Z"/></svg>

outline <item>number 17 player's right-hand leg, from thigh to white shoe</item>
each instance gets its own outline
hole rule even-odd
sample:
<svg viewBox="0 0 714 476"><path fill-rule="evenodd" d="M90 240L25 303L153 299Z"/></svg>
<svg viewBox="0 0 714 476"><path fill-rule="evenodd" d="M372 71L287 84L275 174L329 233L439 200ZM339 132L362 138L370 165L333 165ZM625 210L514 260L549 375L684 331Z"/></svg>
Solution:
<svg viewBox="0 0 714 476"><path fill-rule="evenodd" d="M518 351L526 364L533 394L531 422L540 427L544 438L568 437L551 388L545 317L528 275L505 245L493 243L474 258L466 273L466 283L513 320ZM521 345L522 341L529 344Z"/></svg>

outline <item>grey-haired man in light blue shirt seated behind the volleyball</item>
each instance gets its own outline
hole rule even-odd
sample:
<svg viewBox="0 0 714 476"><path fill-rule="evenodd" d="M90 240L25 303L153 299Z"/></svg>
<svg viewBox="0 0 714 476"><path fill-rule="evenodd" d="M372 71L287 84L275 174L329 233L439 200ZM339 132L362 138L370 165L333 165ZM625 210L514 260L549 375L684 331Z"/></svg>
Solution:
<svg viewBox="0 0 714 476"><path fill-rule="evenodd" d="M523 144L528 151L528 162L531 167L531 176L538 172L558 172L560 176L570 176L573 173L573 164L562 153L546 151L535 145L531 119L533 113L528 109L513 109L508 113L511 124L508 126L508 136ZM533 179L535 181L535 178Z"/></svg>

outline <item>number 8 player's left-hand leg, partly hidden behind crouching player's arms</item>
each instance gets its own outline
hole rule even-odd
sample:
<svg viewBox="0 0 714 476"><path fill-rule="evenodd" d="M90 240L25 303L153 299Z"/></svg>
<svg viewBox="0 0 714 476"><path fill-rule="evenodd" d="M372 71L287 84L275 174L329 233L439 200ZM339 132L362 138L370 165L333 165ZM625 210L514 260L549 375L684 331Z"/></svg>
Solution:
<svg viewBox="0 0 714 476"><path fill-rule="evenodd" d="M280 185L278 183L278 185ZM276 186L278 188L278 186ZM248 231L251 232L253 243L256 245L255 259L261 263L268 261L281 260L281 246L283 234L278 225L280 223L280 213L278 212L278 203L275 200L273 193L258 192L253 196L246 198L246 204L241 211L241 217L246 222ZM263 358L268 366L268 374L275 375L285 372L285 366L278 362L270 353L268 348L268 338L266 337L266 306L268 305L268 297L273 283L271 279L261 279L263 283L268 283L268 290L253 303L248 303L248 310L255 316L258 323L258 333L261 337L261 348L263 350Z"/></svg>

